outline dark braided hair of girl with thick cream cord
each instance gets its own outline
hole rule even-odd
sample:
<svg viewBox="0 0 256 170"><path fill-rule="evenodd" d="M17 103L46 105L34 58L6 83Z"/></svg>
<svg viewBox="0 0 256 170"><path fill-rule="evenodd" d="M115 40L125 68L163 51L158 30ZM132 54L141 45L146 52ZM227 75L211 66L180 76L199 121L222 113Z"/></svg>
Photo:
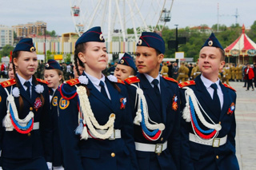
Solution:
<svg viewBox="0 0 256 170"><path fill-rule="evenodd" d="M74 65L75 65L75 69L78 73L78 76L81 76L81 73L79 72L79 69L78 69L78 65L81 65L83 68L85 68L83 62L80 60L80 58L78 57L78 53L85 53L86 52L86 42L85 43L82 43L82 44L78 44L75 46L75 49L74 49ZM112 85L114 85L114 88L118 90L118 92L120 93L121 92L121 89L118 87L118 85L116 85L116 83L110 81L112 83ZM87 96L90 95L90 92L87 88L87 85L82 85L86 88L86 92L87 92Z"/></svg>

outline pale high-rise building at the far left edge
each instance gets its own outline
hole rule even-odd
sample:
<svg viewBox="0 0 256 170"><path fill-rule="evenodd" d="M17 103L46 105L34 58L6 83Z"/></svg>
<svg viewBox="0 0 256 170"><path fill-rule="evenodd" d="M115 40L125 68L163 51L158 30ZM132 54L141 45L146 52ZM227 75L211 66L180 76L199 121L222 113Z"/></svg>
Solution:
<svg viewBox="0 0 256 170"><path fill-rule="evenodd" d="M0 47L14 45L14 29L0 25Z"/></svg>

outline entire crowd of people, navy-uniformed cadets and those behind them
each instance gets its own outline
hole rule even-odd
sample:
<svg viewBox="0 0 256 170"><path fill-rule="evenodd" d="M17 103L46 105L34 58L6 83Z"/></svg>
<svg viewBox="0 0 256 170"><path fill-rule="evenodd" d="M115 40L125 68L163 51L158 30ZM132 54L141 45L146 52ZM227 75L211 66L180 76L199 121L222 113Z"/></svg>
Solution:
<svg viewBox="0 0 256 170"><path fill-rule="evenodd" d="M165 42L150 32L135 61L124 53L111 69L100 27L78 38L74 65L38 64L35 51L18 42L0 84L0 169L239 169L236 93L222 81L242 78L214 34L179 68L162 63ZM254 71L244 69L248 87Z"/></svg>

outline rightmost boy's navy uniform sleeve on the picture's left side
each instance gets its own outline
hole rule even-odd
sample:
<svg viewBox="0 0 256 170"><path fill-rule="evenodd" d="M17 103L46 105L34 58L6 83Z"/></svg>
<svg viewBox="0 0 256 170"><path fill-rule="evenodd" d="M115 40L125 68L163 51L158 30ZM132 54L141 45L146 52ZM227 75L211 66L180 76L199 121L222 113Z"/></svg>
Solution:
<svg viewBox="0 0 256 170"><path fill-rule="evenodd" d="M180 109L180 117L181 117L181 169L183 170L193 170L194 166L190 159L190 140L189 140L189 125L183 118L182 118L182 111L186 105L185 99L185 90L180 89L180 97L181 97L181 109Z"/></svg>

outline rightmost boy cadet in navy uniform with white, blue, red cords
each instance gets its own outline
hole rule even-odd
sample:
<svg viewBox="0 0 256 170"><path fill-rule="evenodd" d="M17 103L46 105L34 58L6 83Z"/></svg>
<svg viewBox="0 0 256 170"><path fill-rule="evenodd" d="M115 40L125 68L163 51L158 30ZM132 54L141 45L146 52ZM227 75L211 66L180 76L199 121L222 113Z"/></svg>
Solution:
<svg viewBox="0 0 256 170"><path fill-rule="evenodd" d="M182 169L239 169L235 156L236 93L222 84L222 45L210 35L199 53L201 75L179 86L182 97Z"/></svg>

